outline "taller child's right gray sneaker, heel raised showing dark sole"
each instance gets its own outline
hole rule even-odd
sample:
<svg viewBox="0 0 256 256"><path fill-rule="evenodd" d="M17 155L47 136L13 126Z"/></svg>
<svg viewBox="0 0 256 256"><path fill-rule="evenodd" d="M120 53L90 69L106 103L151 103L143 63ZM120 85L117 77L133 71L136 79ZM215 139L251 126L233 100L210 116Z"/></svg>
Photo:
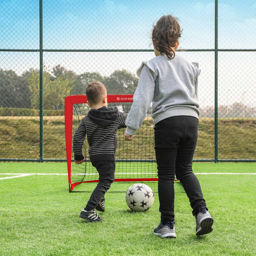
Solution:
<svg viewBox="0 0 256 256"><path fill-rule="evenodd" d="M206 207L200 207L198 215L195 216L196 229L195 234L197 236L205 235L212 232L213 218L207 211Z"/></svg>

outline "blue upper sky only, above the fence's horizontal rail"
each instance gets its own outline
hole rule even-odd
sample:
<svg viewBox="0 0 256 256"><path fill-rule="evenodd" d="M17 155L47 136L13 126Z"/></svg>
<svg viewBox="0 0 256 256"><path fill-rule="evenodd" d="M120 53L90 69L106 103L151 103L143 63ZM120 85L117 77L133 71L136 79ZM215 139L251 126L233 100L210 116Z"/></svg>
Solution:
<svg viewBox="0 0 256 256"><path fill-rule="evenodd" d="M219 47L256 48L256 2L220 0ZM0 48L38 49L39 0L0 1ZM183 49L214 47L214 1L43 0L45 49L148 49L152 24L180 19Z"/></svg>

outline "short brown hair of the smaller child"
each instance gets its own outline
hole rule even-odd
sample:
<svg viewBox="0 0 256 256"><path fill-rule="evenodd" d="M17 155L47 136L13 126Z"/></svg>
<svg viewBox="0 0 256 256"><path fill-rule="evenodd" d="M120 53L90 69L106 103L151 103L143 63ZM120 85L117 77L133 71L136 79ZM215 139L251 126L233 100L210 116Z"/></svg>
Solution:
<svg viewBox="0 0 256 256"><path fill-rule="evenodd" d="M90 104L97 104L101 101L102 97L107 95L107 89L104 84L99 81L92 81L86 87L87 101Z"/></svg>

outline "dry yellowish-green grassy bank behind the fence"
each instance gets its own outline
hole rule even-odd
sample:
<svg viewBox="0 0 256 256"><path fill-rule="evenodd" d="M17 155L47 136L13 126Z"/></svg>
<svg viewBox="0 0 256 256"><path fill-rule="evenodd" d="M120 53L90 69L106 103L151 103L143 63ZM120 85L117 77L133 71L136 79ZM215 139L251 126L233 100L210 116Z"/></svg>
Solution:
<svg viewBox="0 0 256 256"><path fill-rule="evenodd" d="M150 121L150 120L148 120ZM151 121L152 122L152 121ZM150 125L150 124L149 124ZM152 123L151 123L152 125ZM256 119L220 118L218 119L218 157L219 159L255 159L256 156ZM65 159L64 116L44 116L44 158ZM153 132L153 128L151 128ZM154 155L154 141L147 140L149 150L144 151L149 131L138 143L138 132L133 142L123 141L124 129L120 130L117 159L124 159L126 154L131 159L149 159ZM39 148L38 116L0 116L0 157L38 159ZM133 144L134 143L134 144ZM129 155L129 148L134 145L135 154ZM11 152L11 153L10 153ZM143 153L142 153L143 152ZM124 156L122 155L124 153ZM142 155L144 154L144 155ZM214 159L214 119L200 118L198 145L195 159Z"/></svg>

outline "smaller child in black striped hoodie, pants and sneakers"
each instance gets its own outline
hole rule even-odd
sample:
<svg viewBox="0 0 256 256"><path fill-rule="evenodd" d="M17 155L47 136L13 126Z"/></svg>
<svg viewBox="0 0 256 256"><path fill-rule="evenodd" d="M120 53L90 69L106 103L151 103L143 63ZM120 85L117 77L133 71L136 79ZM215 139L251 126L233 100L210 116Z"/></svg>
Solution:
<svg viewBox="0 0 256 256"><path fill-rule="evenodd" d="M73 138L75 163L84 161L82 146L87 134L89 156L92 165L99 172L99 183L93 190L80 217L88 221L102 221L95 209L105 212L104 195L114 181L116 168L116 132L125 128L127 114L117 108L108 107L107 90L104 84L93 81L86 88L87 104L92 107L81 120Z"/></svg>

